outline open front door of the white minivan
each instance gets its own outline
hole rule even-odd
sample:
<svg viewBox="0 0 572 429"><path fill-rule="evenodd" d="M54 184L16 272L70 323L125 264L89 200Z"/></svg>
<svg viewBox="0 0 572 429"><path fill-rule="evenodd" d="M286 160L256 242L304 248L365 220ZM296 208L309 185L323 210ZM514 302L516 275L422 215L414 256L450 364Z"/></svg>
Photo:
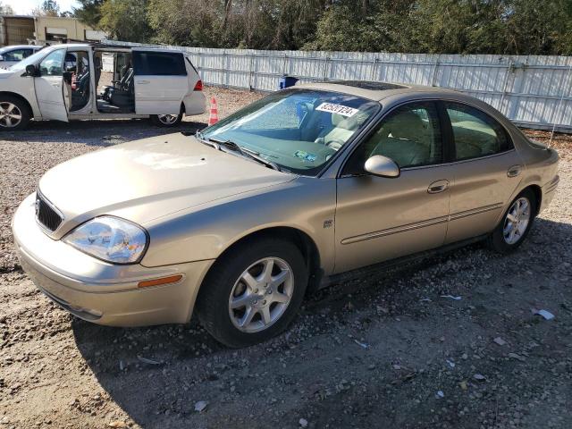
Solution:
<svg viewBox="0 0 572 429"><path fill-rule="evenodd" d="M43 119L68 122L68 107L65 100L69 95L63 85L63 58L65 49L57 49L38 65L38 76L34 78L36 98Z"/></svg>

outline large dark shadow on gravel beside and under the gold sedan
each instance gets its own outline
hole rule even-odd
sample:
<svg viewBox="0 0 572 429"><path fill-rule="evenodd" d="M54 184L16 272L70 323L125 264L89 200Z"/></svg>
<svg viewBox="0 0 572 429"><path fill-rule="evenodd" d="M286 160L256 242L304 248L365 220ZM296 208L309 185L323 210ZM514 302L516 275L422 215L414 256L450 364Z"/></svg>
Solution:
<svg viewBox="0 0 572 429"><path fill-rule="evenodd" d="M476 428L492 418L506 427L543 389L572 399L559 384L566 366L546 360L566 353L571 334L530 312L543 305L570 319L567 279L555 274L570 237L570 224L538 219L506 257L477 244L333 286L309 297L282 336L248 349L223 348L196 321L116 329L76 319L72 328L98 382L145 429L296 428L300 417L310 427ZM502 355L497 336L526 364ZM476 382L475 372L487 378ZM205 412L194 411L199 400Z"/></svg>

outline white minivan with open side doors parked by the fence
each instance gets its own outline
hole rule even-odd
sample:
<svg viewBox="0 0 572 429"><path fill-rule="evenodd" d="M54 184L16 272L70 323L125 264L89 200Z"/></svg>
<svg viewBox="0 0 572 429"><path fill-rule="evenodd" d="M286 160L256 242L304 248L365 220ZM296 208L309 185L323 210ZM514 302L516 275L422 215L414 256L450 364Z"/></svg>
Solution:
<svg viewBox="0 0 572 429"><path fill-rule="evenodd" d="M205 112L202 89L197 69L181 51L49 46L0 70L0 129L24 129L30 119L145 117L170 127L183 115Z"/></svg>

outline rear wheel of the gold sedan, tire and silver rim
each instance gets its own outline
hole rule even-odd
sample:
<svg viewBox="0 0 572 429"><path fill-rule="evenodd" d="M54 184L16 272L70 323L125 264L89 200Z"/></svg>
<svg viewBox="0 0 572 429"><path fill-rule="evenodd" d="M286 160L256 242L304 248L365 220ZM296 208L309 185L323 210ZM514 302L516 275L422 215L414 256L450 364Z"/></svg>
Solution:
<svg viewBox="0 0 572 429"><path fill-rule="evenodd" d="M525 203L527 206L525 206ZM528 232L533 226L537 204L536 196L531 189L525 189L518 194L517 198L512 200L509 208L502 216L501 222L487 238L488 247L502 254L507 254L517 249L526 239ZM517 215L519 222L516 224L512 221L515 215Z"/></svg>

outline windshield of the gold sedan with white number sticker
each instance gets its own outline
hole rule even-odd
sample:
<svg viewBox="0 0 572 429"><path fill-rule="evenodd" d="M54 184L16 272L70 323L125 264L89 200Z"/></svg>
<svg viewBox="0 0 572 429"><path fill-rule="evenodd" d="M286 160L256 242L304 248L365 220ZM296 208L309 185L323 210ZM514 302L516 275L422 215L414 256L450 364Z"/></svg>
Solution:
<svg viewBox="0 0 572 429"><path fill-rule="evenodd" d="M231 114L199 137L231 141L282 170L316 175L379 108L377 102L348 94L286 89Z"/></svg>

